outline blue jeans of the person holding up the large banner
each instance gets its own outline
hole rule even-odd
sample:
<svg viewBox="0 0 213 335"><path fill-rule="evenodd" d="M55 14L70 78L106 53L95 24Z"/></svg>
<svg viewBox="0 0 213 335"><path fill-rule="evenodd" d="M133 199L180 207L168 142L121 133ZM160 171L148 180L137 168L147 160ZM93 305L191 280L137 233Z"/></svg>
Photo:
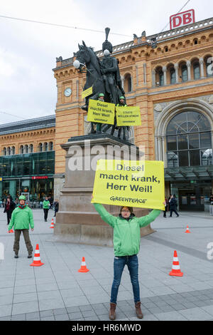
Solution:
<svg viewBox="0 0 213 335"><path fill-rule="evenodd" d="M136 254L133 256L122 256L114 257L114 281L111 287L111 300L116 304L117 295L119 292L119 286L121 283L121 276L124 271L124 267L127 265L129 269L129 274L131 278L131 284L133 288L134 301L138 302L140 300L140 287L138 282L138 257Z"/></svg>

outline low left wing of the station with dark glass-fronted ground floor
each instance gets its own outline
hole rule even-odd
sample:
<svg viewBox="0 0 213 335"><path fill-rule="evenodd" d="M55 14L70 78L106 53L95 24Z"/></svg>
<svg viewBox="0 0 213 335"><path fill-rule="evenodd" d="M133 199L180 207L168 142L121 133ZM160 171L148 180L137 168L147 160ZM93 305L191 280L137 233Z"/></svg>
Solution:
<svg viewBox="0 0 213 335"><path fill-rule="evenodd" d="M55 115L0 125L0 198L53 197Z"/></svg>

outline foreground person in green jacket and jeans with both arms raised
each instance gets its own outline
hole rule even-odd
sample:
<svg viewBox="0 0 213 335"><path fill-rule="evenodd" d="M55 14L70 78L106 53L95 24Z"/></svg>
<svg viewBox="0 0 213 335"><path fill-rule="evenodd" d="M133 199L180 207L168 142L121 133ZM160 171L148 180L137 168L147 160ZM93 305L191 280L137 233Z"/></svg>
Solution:
<svg viewBox="0 0 213 335"><path fill-rule="evenodd" d="M165 205L165 202L163 204ZM142 319L137 257L141 242L140 228L153 222L160 215L160 210L153 210L144 217L136 217L132 207L123 206L119 217L114 217L107 212L103 205L97 203L93 205L102 220L114 228L114 281L111 287L109 319L116 319L116 301L125 265L127 265L131 277L136 316L138 319Z"/></svg>

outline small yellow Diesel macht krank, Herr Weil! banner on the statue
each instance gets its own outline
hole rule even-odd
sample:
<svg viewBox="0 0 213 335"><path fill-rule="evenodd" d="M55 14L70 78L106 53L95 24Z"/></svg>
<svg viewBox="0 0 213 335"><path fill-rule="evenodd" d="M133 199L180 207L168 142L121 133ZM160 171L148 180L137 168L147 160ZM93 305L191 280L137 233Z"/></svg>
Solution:
<svg viewBox="0 0 213 335"><path fill-rule="evenodd" d="M114 103L89 99L87 120L94 123L114 125Z"/></svg>

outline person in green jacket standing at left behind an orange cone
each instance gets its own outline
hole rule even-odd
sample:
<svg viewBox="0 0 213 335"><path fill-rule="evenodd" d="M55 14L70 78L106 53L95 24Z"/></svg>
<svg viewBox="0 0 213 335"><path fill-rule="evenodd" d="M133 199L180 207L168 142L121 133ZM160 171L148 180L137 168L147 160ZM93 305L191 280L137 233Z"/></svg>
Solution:
<svg viewBox="0 0 213 335"><path fill-rule="evenodd" d="M26 197L21 195L19 198L18 207L13 210L11 217L11 222L9 224L9 232L14 226L15 230L15 240L13 244L13 251L15 252L15 258L18 258L19 250L19 240L21 232L23 232L23 237L26 243L26 248L28 249L28 258L32 258L33 247L29 237L29 226L31 225L31 231L34 230L33 212L31 208L26 205Z"/></svg>

